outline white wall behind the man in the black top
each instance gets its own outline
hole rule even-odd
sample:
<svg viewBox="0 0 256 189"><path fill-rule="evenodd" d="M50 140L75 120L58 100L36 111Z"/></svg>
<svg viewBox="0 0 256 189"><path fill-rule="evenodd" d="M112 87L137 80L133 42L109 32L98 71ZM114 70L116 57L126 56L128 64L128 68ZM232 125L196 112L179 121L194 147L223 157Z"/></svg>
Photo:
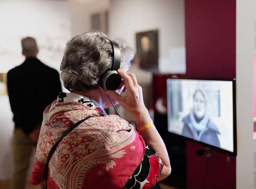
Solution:
<svg viewBox="0 0 256 189"><path fill-rule="evenodd" d="M32 36L38 58L59 71L63 50L71 37L68 1L0 0L0 72L23 62L20 40ZM0 96L0 180L12 174L11 138L14 129L8 96Z"/></svg>

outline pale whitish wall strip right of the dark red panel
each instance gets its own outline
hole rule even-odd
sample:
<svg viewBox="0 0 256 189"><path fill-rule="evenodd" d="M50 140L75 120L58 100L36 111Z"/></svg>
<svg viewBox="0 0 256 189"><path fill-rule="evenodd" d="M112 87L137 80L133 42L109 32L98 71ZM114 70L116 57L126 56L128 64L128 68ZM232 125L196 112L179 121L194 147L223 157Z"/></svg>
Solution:
<svg viewBox="0 0 256 189"><path fill-rule="evenodd" d="M256 188L253 139L253 56L256 55L256 1L236 0L237 158L236 188Z"/></svg>

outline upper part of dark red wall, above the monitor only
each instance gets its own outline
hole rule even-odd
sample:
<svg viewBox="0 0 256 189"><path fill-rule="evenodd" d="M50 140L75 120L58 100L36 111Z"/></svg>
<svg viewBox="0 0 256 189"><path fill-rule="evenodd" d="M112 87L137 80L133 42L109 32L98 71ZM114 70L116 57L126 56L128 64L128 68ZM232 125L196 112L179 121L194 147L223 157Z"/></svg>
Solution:
<svg viewBox="0 0 256 189"><path fill-rule="evenodd" d="M187 75L236 77L236 1L185 0Z"/></svg>

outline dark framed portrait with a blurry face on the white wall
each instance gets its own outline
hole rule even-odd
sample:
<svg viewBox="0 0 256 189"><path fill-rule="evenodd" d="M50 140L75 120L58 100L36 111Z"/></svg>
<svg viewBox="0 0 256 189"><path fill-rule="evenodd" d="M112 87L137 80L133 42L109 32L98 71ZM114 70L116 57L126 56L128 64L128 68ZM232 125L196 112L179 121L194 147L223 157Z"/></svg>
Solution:
<svg viewBox="0 0 256 189"><path fill-rule="evenodd" d="M148 71L158 71L158 30L138 32L136 47L140 67Z"/></svg>

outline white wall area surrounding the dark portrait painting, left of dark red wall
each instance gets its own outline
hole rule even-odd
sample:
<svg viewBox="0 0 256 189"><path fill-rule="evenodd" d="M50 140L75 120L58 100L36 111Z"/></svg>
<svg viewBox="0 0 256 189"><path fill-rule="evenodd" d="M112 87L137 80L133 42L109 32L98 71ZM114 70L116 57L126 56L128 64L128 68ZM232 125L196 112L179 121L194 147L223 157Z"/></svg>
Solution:
<svg viewBox="0 0 256 189"><path fill-rule="evenodd" d="M123 38L136 50L135 33L154 29L159 71L185 73L184 0L110 0L110 38Z"/></svg>

